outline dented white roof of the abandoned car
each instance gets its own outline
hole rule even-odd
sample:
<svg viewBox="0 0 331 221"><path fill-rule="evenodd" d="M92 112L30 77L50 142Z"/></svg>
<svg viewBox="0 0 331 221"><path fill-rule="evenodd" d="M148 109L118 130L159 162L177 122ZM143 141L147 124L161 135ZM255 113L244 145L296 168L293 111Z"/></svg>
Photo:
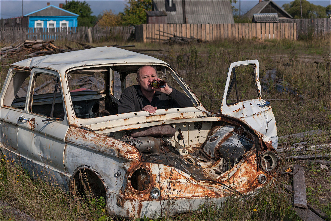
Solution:
<svg viewBox="0 0 331 221"><path fill-rule="evenodd" d="M117 47L96 47L28 58L11 66L21 69L45 68L64 73L70 68L103 64L166 64L157 58Z"/></svg>

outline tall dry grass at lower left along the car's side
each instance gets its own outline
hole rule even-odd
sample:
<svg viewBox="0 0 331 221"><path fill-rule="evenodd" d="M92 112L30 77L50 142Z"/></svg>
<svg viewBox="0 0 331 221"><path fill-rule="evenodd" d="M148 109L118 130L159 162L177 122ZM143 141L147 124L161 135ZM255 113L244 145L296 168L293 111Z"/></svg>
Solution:
<svg viewBox="0 0 331 221"><path fill-rule="evenodd" d="M2 153L1 153L2 154ZM97 220L111 219L102 199L84 200L77 194L64 192L57 183L43 178L32 179L14 160L1 155L1 200L20 208L39 220ZM14 220L14 215L1 215L1 220Z"/></svg>

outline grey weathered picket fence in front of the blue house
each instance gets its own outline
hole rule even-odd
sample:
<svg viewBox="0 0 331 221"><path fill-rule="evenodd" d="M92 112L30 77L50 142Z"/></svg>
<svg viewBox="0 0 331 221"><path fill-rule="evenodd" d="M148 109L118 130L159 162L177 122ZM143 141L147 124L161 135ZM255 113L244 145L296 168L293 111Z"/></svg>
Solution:
<svg viewBox="0 0 331 221"><path fill-rule="evenodd" d="M1 41L13 42L17 40L58 40L88 42L88 27L77 28L1 28ZM134 36L134 27L94 27L91 28L93 41L128 40Z"/></svg>

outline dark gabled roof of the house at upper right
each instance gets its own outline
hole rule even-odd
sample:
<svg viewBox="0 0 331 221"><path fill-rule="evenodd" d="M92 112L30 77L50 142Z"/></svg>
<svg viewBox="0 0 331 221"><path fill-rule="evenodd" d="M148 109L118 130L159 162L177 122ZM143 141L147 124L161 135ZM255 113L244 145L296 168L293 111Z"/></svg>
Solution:
<svg viewBox="0 0 331 221"><path fill-rule="evenodd" d="M268 12L266 12L267 6L270 5L270 10ZM271 10L271 9L274 10ZM243 17L247 17L247 18L253 18L254 14L260 14L260 13L277 13L278 17L285 17L285 18L293 18L290 14L288 14L284 9L282 9L280 6L278 6L276 3L274 3L273 1L269 0L269 1L261 1L259 2L257 5L255 5L251 10L249 10L248 12L246 12L245 15L243 15Z"/></svg>

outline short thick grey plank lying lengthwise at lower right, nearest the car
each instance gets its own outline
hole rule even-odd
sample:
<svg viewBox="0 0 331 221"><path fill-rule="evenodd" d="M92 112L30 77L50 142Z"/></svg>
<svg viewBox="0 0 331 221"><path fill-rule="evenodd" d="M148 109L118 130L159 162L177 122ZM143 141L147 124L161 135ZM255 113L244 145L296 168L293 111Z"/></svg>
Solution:
<svg viewBox="0 0 331 221"><path fill-rule="evenodd" d="M293 202L294 206L308 208L304 168L298 165L293 166Z"/></svg>

